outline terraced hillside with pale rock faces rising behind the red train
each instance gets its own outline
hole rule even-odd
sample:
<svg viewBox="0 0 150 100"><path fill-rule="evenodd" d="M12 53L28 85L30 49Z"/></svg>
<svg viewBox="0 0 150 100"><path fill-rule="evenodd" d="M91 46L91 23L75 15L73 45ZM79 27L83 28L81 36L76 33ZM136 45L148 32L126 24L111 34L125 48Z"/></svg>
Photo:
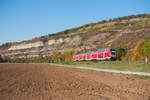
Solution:
<svg viewBox="0 0 150 100"><path fill-rule="evenodd" d="M0 46L0 55L8 58L47 57L57 52L65 54L85 52L105 47L126 48L124 60L143 60L131 58L139 42L150 40L150 15L131 15L90 23L81 27L49 34L32 40L6 43ZM146 48L147 49L147 48ZM149 50L149 49L148 49ZM139 52L138 49L136 52ZM149 52L147 52L149 53Z"/></svg>

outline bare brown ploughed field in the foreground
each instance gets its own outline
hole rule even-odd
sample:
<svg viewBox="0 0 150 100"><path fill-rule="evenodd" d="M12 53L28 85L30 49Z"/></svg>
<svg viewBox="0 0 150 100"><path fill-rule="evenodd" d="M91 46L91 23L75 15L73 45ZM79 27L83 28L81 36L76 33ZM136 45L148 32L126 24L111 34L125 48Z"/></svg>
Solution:
<svg viewBox="0 0 150 100"><path fill-rule="evenodd" d="M150 100L150 80L48 64L0 64L0 100Z"/></svg>

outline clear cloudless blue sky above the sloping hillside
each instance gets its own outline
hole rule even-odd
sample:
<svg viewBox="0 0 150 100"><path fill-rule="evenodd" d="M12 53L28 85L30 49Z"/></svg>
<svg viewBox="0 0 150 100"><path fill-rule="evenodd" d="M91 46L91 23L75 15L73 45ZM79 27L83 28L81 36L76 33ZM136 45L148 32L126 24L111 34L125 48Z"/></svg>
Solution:
<svg viewBox="0 0 150 100"><path fill-rule="evenodd" d="M0 44L150 13L150 0L0 0Z"/></svg>

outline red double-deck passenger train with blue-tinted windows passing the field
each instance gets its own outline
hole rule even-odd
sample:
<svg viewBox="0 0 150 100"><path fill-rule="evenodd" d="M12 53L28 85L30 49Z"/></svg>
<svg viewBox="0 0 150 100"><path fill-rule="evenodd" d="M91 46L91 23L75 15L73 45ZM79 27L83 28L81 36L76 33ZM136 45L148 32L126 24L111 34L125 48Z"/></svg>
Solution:
<svg viewBox="0 0 150 100"><path fill-rule="evenodd" d="M114 48L105 48L98 51L80 53L73 56L73 61L101 61L116 60L116 50Z"/></svg>

